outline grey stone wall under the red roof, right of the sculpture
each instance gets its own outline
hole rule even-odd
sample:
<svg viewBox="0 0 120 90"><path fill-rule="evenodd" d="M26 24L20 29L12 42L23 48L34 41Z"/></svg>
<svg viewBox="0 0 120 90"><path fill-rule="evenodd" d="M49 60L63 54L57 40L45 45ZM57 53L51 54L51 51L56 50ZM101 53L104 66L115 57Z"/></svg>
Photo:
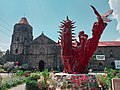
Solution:
<svg viewBox="0 0 120 90"><path fill-rule="evenodd" d="M105 55L105 60L97 60L96 55ZM90 60L93 69L104 70L112 68L115 60L120 60L120 46L99 46Z"/></svg>

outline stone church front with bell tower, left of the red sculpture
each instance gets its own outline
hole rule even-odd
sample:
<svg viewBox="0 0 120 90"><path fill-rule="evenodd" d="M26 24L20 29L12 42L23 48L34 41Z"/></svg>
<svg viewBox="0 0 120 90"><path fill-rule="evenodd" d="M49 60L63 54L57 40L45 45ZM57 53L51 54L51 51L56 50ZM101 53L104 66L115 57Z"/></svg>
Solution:
<svg viewBox="0 0 120 90"><path fill-rule="evenodd" d="M19 64L29 64L30 67L39 67L43 63L45 68L60 69L60 46L48 38L44 33L33 39L33 28L23 17L14 25L10 55L13 61Z"/></svg>

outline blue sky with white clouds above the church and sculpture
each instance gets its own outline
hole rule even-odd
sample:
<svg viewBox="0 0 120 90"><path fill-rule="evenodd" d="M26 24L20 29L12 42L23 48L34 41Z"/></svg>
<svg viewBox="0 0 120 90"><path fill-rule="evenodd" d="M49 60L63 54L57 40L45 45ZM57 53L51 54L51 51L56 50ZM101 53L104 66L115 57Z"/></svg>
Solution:
<svg viewBox="0 0 120 90"><path fill-rule="evenodd" d="M10 48L13 27L26 17L33 27L34 38L42 32L58 41L60 22L68 16L75 21L75 34L84 30L91 38L93 23L97 21L90 5L100 14L113 9L109 22L100 41L120 40L120 0L0 0L0 50Z"/></svg>

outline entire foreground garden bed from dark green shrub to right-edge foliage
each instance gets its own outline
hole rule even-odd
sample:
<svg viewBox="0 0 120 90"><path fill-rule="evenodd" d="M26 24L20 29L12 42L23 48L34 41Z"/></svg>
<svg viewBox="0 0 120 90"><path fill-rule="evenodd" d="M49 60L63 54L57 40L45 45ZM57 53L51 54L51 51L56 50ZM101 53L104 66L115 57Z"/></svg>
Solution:
<svg viewBox="0 0 120 90"><path fill-rule="evenodd" d="M120 70L108 69L105 74L66 74L45 70L32 73L26 79L27 90L105 90L111 89L111 79L120 78Z"/></svg>

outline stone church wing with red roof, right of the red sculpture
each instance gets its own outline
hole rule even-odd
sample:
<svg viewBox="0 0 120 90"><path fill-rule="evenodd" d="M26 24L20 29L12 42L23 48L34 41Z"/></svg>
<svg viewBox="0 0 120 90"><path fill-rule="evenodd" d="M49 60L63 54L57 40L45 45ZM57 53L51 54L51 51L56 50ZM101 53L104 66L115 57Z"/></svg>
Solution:
<svg viewBox="0 0 120 90"><path fill-rule="evenodd" d="M120 41L101 41L89 65L96 71L103 71L106 67L116 69L115 61L120 61Z"/></svg>

